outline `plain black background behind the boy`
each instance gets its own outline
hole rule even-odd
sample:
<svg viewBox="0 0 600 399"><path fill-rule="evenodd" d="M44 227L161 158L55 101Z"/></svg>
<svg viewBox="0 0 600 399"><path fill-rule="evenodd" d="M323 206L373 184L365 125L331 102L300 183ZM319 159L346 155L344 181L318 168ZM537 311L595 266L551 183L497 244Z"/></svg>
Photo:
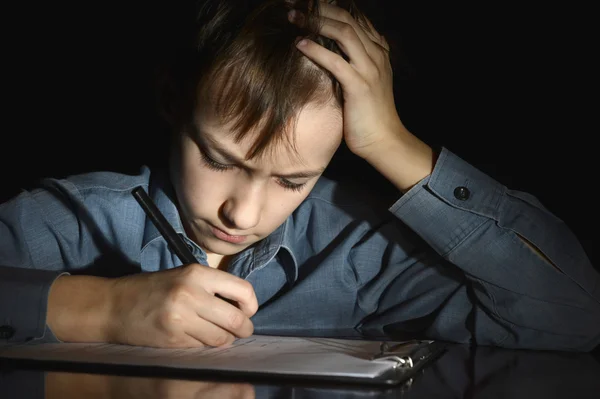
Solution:
<svg viewBox="0 0 600 399"><path fill-rule="evenodd" d="M165 126L155 112L152 77L185 14L181 3L4 6L3 200L40 177L135 173L161 162ZM595 262L591 10L558 2L362 3L394 46L397 108L407 127L537 196ZM373 189L389 193L344 151L330 173L378 182Z"/></svg>

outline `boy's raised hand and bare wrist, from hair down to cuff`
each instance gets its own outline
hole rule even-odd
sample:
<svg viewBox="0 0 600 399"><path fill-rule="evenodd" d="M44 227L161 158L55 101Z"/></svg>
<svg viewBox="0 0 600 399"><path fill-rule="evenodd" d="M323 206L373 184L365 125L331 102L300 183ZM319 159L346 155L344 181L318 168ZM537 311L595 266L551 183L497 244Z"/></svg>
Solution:
<svg viewBox="0 0 600 399"><path fill-rule="evenodd" d="M319 5L320 35L335 40L348 61L311 40L298 42L297 48L340 83L348 148L406 192L433 171L436 157L400 120L389 45L366 18L359 23L340 7L323 0ZM305 16L294 10L289 19L302 25Z"/></svg>

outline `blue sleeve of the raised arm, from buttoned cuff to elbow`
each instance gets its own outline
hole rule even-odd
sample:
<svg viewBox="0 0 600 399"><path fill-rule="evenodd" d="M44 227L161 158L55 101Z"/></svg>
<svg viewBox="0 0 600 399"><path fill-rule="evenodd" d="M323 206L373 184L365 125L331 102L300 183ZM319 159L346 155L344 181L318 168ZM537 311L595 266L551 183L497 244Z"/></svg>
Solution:
<svg viewBox="0 0 600 399"><path fill-rule="evenodd" d="M390 211L465 272L478 305L512 337L506 345L588 348L600 339L599 275L531 195L442 150L431 176Z"/></svg>

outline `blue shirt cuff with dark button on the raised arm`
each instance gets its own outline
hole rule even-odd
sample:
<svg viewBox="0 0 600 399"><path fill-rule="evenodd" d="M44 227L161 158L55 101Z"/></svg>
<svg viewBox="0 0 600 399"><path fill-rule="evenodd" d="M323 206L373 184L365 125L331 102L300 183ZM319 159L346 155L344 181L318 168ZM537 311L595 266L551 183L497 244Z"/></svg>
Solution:
<svg viewBox="0 0 600 399"><path fill-rule="evenodd" d="M498 220L506 187L442 148L433 172L389 209L439 254Z"/></svg>

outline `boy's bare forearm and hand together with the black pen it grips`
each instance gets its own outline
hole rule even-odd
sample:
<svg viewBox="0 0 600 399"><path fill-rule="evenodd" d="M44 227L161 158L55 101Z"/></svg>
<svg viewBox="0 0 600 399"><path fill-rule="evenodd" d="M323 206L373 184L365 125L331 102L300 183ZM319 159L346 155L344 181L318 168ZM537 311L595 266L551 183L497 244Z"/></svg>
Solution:
<svg viewBox="0 0 600 399"><path fill-rule="evenodd" d="M143 189L134 196L184 265L119 278L58 277L48 295L46 319L56 338L194 348L250 336L254 332L250 318L258 309L252 285L199 265Z"/></svg>

